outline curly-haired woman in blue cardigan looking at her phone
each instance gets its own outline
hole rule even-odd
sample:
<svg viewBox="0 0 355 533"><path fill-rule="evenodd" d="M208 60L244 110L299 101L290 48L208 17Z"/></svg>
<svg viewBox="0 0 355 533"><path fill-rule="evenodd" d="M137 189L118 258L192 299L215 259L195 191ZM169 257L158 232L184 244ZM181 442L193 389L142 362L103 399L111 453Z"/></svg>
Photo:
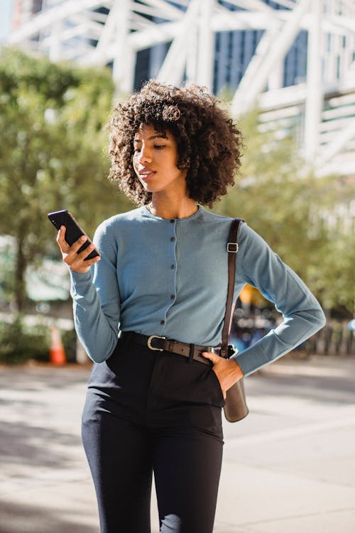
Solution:
<svg viewBox="0 0 355 533"><path fill-rule="evenodd" d="M310 337L324 315L244 223L234 298L244 284L256 286L284 319L241 354L212 352L221 340L231 219L200 205L212 206L233 184L240 132L202 88L154 81L117 105L109 129L111 178L141 207L99 226L101 259L85 262L94 244L77 254L84 237L69 247L65 227L58 233L77 333L95 362L82 437L101 531L150 531L154 472L160 532L209 533L226 390ZM190 357L179 355L185 347Z"/></svg>

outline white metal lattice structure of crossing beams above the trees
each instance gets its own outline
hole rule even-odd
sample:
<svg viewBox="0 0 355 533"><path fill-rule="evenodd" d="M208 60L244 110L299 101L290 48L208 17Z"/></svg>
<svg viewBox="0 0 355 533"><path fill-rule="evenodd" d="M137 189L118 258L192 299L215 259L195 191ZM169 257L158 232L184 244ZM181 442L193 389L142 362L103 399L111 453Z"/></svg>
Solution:
<svg viewBox="0 0 355 533"><path fill-rule="evenodd" d="M320 175L355 174L355 1L43 0L44 8L7 43L40 50L52 60L112 63L121 91L133 88L136 54L171 43L158 80L185 78L212 89L217 32L262 30L233 98L238 115L258 104L262 127L297 124L300 144ZM102 9L104 8L104 9ZM282 87L283 60L297 34L307 40L306 80Z"/></svg>

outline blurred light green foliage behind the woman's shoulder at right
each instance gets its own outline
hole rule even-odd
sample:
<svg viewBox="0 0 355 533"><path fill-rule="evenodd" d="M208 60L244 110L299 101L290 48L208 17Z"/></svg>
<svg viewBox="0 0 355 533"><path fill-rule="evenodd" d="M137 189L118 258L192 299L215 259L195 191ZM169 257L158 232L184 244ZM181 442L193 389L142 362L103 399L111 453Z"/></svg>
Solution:
<svg viewBox="0 0 355 533"><path fill-rule="evenodd" d="M258 112L241 119L244 163L238 183L216 206L243 217L293 268L326 308L354 313L354 237L332 228L338 205L354 198L354 185L337 176L316 178L290 136L258 129ZM345 221L346 222L346 221Z"/></svg>

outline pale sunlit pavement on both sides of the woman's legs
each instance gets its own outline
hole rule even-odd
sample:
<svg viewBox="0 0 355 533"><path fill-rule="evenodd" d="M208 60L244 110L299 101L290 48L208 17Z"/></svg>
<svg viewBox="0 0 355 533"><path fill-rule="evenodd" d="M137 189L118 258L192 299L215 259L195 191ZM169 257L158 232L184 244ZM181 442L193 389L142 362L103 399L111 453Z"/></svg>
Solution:
<svg viewBox="0 0 355 533"><path fill-rule="evenodd" d="M0 367L0 533L99 533L80 441L88 375ZM249 416L224 422L214 532L355 533L355 357L283 357L246 393Z"/></svg>

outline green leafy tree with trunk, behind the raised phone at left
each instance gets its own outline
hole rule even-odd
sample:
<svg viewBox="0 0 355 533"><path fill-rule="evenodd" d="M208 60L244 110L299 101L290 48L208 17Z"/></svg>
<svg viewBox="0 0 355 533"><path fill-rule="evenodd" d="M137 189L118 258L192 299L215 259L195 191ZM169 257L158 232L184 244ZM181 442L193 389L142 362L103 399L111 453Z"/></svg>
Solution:
<svg viewBox="0 0 355 533"><path fill-rule="evenodd" d="M130 208L106 178L113 91L109 70L1 51L0 235L15 238L18 311L26 266L55 250L47 212L67 208L92 234L104 218Z"/></svg>

